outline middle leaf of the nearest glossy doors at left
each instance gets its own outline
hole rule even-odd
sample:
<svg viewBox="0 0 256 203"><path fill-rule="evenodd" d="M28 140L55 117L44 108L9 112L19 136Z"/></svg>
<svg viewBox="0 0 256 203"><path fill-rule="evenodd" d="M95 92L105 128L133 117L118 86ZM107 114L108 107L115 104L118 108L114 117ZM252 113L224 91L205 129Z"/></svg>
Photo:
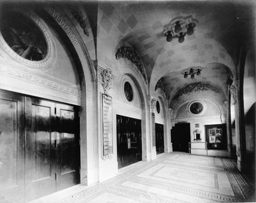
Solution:
<svg viewBox="0 0 256 203"><path fill-rule="evenodd" d="M55 192L55 104L26 97L26 199Z"/></svg>

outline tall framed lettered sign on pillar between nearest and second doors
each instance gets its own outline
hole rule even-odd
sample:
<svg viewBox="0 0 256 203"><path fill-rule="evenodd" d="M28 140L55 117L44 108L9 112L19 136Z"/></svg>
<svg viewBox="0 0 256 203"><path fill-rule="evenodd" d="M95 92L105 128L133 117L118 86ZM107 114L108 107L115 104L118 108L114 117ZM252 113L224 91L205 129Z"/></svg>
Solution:
<svg viewBox="0 0 256 203"><path fill-rule="evenodd" d="M103 156L113 154L112 97L102 94Z"/></svg>

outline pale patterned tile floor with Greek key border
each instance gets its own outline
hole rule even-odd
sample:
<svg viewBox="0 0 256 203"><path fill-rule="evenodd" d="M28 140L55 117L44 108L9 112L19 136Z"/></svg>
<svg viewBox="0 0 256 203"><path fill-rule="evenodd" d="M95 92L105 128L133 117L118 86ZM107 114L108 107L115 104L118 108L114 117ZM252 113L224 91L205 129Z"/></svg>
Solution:
<svg viewBox="0 0 256 203"><path fill-rule="evenodd" d="M229 159L169 153L125 168L113 179L74 190L66 198L62 196L64 199L51 198L51 202L255 201L248 183ZM46 202L50 202L49 199Z"/></svg>

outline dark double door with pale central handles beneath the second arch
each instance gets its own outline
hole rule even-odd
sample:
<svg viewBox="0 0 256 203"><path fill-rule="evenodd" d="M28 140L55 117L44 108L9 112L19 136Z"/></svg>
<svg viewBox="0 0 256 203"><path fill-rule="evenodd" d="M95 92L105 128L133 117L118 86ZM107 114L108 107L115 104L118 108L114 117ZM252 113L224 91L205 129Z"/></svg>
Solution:
<svg viewBox="0 0 256 203"><path fill-rule="evenodd" d="M118 169L141 160L141 120L117 115Z"/></svg>

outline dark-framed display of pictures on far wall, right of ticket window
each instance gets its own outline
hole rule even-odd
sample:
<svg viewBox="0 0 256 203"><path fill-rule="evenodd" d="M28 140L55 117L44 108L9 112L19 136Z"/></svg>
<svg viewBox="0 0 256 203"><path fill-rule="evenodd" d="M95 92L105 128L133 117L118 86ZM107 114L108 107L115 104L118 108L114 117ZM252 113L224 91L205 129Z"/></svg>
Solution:
<svg viewBox="0 0 256 203"><path fill-rule="evenodd" d="M226 124L205 125L208 149L227 149Z"/></svg>

